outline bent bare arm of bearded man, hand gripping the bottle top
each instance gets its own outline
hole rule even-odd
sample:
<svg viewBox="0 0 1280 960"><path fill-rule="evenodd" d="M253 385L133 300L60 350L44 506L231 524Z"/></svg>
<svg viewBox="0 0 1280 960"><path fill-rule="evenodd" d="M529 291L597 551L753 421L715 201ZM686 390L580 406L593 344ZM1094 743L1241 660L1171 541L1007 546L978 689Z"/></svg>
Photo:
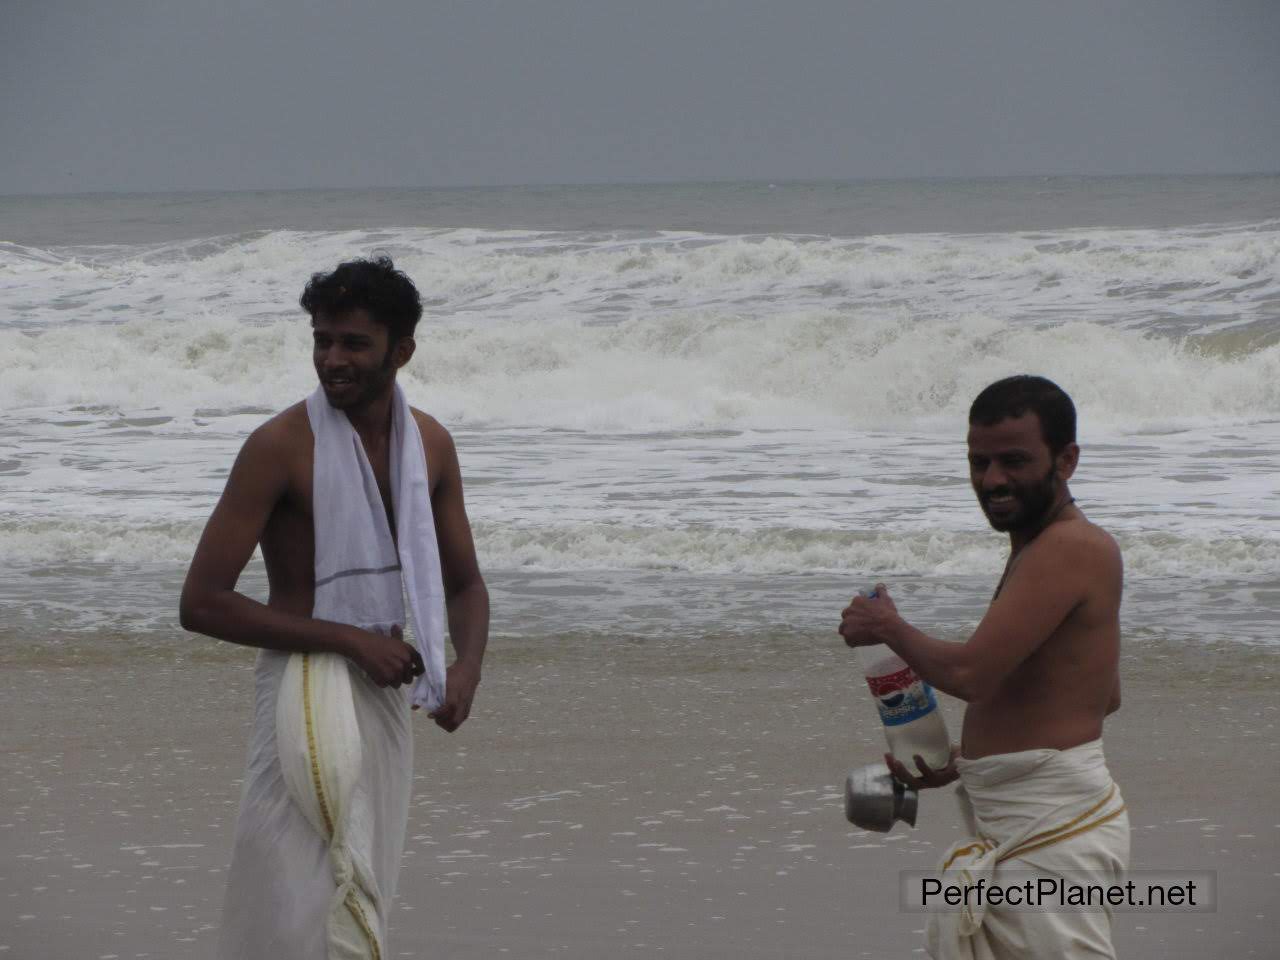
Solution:
<svg viewBox="0 0 1280 960"><path fill-rule="evenodd" d="M884 644L927 682L966 703L989 698L1084 599L1096 548L1060 527L1029 545L1000 596L965 643L928 636L904 621L882 586L854 598L840 634L850 646Z"/></svg>

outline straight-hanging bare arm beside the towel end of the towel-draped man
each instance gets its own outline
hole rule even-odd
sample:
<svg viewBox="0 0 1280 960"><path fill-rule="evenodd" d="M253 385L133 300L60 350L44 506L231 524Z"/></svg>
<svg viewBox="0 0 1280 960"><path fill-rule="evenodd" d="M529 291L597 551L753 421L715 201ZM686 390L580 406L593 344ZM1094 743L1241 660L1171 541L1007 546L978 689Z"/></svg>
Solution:
<svg viewBox="0 0 1280 960"><path fill-rule="evenodd" d="M431 513L440 549L444 605L456 659L444 682L444 704L431 718L453 732L471 713L480 667L489 640L489 590L480 575L471 524L462 498L462 468L453 438L434 420L420 424L431 431L429 449L439 465L439 480L431 492Z"/></svg>

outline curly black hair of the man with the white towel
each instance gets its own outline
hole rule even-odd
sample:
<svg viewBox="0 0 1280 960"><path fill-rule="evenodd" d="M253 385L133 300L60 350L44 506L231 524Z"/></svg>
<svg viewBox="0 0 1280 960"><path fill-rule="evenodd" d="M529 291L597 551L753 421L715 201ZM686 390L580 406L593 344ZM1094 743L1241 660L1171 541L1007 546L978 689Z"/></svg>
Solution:
<svg viewBox="0 0 1280 960"><path fill-rule="evenodd" d="M332 273L311 274L298 303L311 319L316 314L346 314L367 310L369 316L390 333L390 342L412 337L422 319L422 300L417 287L396 269L388 256L347 260Z"/></svg>

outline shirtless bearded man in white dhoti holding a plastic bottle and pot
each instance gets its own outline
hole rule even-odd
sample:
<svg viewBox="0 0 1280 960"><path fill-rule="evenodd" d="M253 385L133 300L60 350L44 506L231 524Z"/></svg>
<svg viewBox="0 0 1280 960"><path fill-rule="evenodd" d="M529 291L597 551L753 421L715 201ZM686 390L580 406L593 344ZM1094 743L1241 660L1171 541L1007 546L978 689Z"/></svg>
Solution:
<svg viewBox="0 0 1280 960"><path fill-rule="evenodd" d="M969 411L969 477L991 526L1009 534L995 598L964 643L927 636L883 584L844 611L850 646L884 644L928 684L964 700L951 763L886 756L920 788L960 780L973 836L940 864L943 884L1009 888L1029 876L1119 883L1129 819L1102 754L1103 718L1120 707L1123 564L1115 540L1084 516L1068 481L1080 448L1075 407L1056 384L1011 376ZM1016 891L1015 891L1016 892ZM1110 908L1033 911L1023 904L932 904L934 957L1112 957Z"/></svg>

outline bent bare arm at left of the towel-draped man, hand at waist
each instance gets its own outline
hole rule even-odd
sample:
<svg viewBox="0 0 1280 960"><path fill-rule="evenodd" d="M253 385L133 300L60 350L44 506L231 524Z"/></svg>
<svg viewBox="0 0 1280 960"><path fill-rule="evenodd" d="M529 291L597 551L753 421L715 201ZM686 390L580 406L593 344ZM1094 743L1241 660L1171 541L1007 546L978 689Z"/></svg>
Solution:
<svg viewBox="0 0 1280 960"><path fill-rule="evenodd" d="M289 613L237 593L271 511L288 493L289 438L278 420L255 430L241 449L182 588L184 630L233 644L288 653L338 653L379 686L399 686L422 672L421 657L398 636Z"/></svg>

